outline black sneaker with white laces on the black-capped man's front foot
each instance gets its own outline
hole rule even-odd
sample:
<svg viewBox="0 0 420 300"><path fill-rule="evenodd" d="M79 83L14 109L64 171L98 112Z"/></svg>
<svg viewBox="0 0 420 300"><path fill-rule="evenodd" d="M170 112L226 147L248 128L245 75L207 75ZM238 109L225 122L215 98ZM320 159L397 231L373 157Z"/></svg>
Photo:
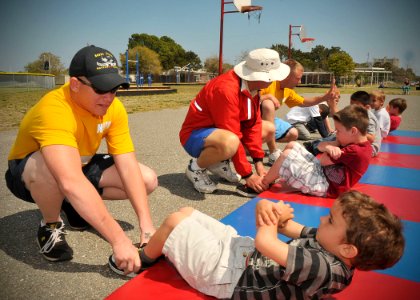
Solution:
<svg viewBox="0 0 420 300"><path fill-rule="evenodd" d="M40 253L49 261L64 261L73 258L73 250L66 242L63 222L39 226L38 245Z"/></svg>

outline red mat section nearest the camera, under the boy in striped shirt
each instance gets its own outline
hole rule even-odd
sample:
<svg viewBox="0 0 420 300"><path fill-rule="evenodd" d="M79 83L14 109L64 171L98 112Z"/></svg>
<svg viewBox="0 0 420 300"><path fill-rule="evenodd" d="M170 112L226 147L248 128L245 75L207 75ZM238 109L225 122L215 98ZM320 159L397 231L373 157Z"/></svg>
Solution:
<svg viewBox="0 0 420 300"><path fill-rule="evenodd" d="M368 283L368 284L366 284ZM420 284L376 272L356 271L351 285L334 295L337 300L414 299ZM215 299L192 289L166 261L131 279L109 295L107 300L195 300Z"/></svg>

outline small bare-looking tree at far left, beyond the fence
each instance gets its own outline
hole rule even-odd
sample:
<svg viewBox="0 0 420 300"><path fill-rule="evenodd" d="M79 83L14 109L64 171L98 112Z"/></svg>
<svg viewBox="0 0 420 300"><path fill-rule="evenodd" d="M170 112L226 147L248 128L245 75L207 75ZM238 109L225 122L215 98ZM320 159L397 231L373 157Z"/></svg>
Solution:
<svg viewBox="0 0 420 300"><path fill-rule="evenodd" d="M46 68L47 67L47 68ZM37 60L25 65L25 71L29 73L46 73L53 75L66 74L67 70L62 64L60 57L51 52L43 52Z"/></svg>

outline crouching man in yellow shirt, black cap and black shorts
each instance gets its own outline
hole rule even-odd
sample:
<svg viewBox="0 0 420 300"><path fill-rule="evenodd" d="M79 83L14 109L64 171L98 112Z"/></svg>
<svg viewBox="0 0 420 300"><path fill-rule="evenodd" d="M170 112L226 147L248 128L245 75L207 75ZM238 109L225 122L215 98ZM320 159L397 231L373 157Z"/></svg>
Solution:
<svg viewBox="0 0 420 300"><path fill-rule="evenodd" d="M73 257L64 237L63 209L72 227L92 225L111 244L117 264L136 271L138 251L102 200L128 198L140 240L148 242L155 227L147 195L157 187L157 177L137 162L127 112L115 97L128 84L118 74L116 58L95 46L76 53L69 74L68 84L46 94L23 118L8 157L7 186L38 205L38 244L46 259ZM102 139L107 153L97 154Z"/></svg>

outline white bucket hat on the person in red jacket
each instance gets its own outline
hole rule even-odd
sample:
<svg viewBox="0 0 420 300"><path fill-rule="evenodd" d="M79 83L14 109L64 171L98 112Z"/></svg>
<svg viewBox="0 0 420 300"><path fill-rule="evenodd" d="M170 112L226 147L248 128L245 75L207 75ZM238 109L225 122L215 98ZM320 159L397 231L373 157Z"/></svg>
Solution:
<svg viewBox="0 0 420 300"><path fill-rule="evenodd" d="M244 80L264 82L283 80L290 73L290 67L280 62L277 51L266 48L250 51L233 70Z"/></svg>

